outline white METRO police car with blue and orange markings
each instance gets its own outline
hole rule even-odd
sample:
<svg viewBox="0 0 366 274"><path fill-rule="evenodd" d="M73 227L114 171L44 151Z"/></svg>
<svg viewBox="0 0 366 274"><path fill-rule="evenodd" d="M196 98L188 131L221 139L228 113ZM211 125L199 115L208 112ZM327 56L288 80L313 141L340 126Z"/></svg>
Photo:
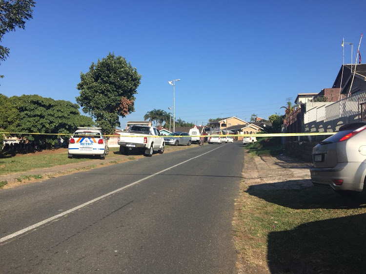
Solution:
<svg viewBox="0 0 366 274"><path fill-rule="evenodd" d="M108 154L108 143L103 137L102 128L78 127L70 138L67 156L97 155L104 159Z"/></svg>

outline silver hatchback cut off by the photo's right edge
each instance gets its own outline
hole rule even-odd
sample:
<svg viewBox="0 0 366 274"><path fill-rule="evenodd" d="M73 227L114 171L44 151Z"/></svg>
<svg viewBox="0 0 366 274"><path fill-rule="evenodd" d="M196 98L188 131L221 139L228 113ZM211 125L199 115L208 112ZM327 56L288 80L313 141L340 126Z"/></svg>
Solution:
<svg viewBox="0 0 366 274"><path fill-rule="evenodd" d="M313 148L314 185L342 193L360 193L366 182L366 121L340 127L339 132Z"/></svg>

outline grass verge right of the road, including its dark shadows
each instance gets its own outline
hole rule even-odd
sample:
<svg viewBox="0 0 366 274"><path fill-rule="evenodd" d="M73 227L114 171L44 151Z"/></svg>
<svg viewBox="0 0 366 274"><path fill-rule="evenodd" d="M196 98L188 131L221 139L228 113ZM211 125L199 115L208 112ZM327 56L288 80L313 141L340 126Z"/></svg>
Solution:
<svg viewBox="0 0 366 274"><path fill-rule="evenodd" d="M365 198L346 199L321 187L251 186L243 203L236 214L242 225L235 229L247 236L237 249L247 256L265 254L272 273L364 272Z"/></svg>

